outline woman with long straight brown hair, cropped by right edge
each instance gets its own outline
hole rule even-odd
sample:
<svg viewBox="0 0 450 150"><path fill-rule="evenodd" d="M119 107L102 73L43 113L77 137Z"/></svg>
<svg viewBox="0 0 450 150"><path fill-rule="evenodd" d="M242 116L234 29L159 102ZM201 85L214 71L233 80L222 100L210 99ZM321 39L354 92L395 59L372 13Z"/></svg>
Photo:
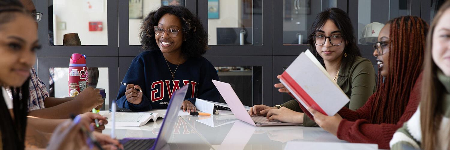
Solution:
<svg viewBox="0 0 450 150"><path fill-rule="evenodd" d="M450 1L439 9L427 37L421 103L390 146L450 150Z"/></svg>

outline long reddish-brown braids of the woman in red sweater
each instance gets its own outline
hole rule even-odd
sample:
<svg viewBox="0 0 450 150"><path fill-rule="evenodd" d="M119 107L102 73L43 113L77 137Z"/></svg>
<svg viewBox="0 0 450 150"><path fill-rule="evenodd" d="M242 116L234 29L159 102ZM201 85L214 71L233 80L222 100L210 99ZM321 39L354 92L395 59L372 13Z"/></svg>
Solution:
<svg viewBox="0 0 450 150"><path fill-rule="evenodd" d="M389 73L378 71L378 83L370 121L397 123L405 112L410 93L422 72L428 24L416 16L401 16L386 23L389 29Z"/></svg>

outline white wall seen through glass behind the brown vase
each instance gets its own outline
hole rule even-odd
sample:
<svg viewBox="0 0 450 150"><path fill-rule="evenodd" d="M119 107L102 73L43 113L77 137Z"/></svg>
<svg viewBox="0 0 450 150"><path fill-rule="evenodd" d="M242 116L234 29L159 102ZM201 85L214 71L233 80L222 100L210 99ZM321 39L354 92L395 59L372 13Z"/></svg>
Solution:
<svg viewBox="0 0 450 150"><path fill-rule="evenodd" d="M87 0L53 0L53 14L56 15L53 21L66 23L65 30L54 31L54 44L63 45L66 33L78 33L81 45L108 45L107 0L100 1L103 1L103 12L85 11ZM89 22L92 21L103 22L103 31L89 31Z"/></svg>

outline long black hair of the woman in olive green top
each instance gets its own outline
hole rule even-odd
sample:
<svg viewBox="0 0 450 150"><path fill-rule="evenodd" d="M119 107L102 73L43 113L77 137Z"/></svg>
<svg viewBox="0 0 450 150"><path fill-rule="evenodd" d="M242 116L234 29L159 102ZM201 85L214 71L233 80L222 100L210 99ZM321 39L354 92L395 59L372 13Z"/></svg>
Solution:
<svg viewBox="0 0 450 150"><path fill-rule="evenodd" d="M342 9L338 8L328 8L317 14L314 23L311 26L311 34L308 36L308 42L311 45L312 54L315 55L317 60L319 60L320 64L325 67L324 59L318 55L317 50L315 49L315 43L312 34L315 34L320 30L327 22L327 20L331 20L334 22L336 27L342 33L342 38L348 43L345 45L344 53L347 53L347 57L342 56L342 63L345 65L348 62L353 62L355 56L361 56L360 49L356 45L356 37L353 34L354 29L351 25L350 17L348 14ZM345 43L344 43L345 44Z"/></svg>

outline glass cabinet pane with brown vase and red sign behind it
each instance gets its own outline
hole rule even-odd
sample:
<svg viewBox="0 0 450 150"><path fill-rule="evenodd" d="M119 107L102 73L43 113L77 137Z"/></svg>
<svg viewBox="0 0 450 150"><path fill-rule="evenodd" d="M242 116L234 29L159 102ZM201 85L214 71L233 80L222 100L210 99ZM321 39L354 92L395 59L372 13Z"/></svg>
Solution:
<svg viewBox="0 0 450 150"><path fill-rule="evenodd" d="M107 0L49 0L49 45L108 45Z"/></svg>

